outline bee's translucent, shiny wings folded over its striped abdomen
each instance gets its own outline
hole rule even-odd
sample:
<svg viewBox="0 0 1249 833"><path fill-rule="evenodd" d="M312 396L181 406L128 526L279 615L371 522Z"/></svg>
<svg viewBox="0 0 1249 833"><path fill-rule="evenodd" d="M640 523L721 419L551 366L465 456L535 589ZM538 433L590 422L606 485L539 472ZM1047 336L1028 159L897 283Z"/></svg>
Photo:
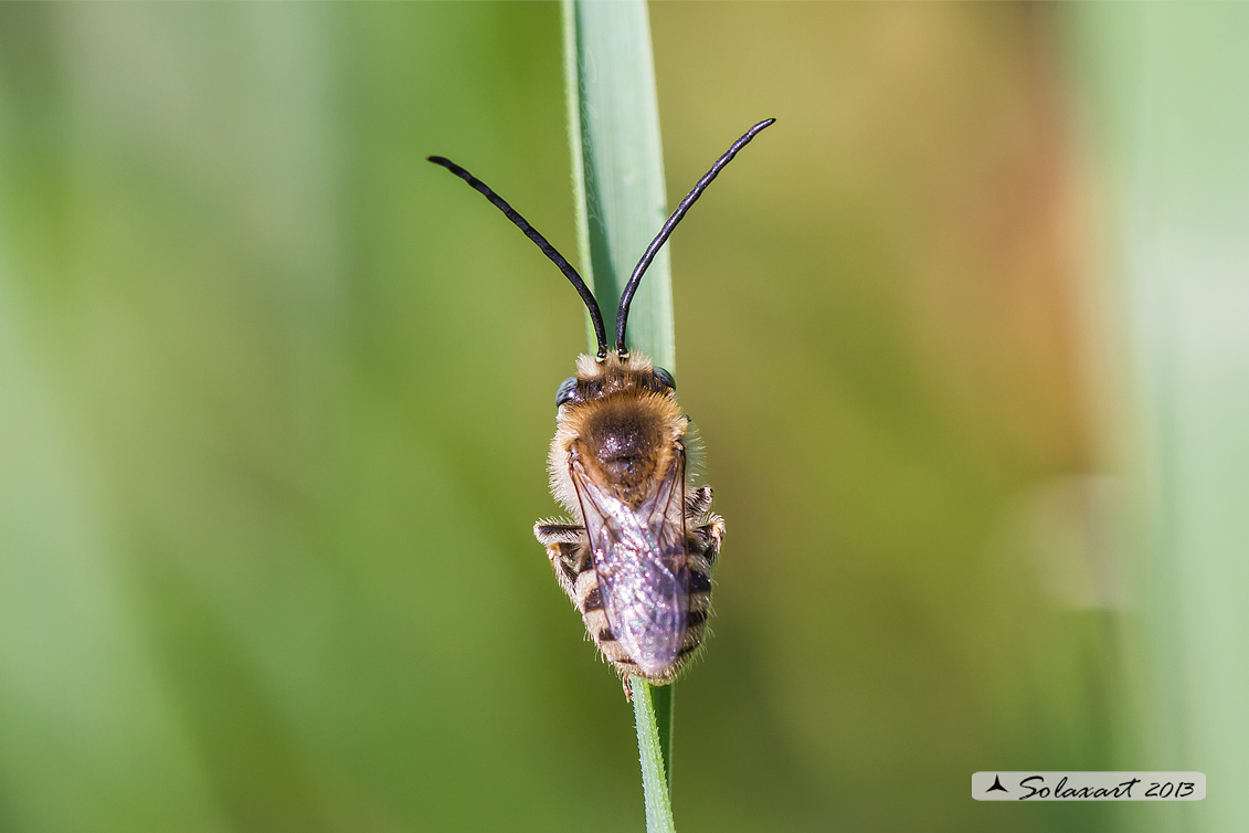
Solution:
<svg viewBox="0 0 1249 833"><path fill-rule="evenodd" d="M689 612L684 451L636 510L600 488L578 461L568 468L612 632L643 672L661 673L677 659Z"/></svg>

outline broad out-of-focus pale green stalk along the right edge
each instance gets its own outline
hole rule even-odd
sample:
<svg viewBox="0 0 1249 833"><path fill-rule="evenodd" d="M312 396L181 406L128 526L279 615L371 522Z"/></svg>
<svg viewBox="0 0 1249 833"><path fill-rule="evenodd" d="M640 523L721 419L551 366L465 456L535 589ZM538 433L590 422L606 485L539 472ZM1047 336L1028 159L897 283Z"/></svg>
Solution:
<svg viewBox="0 0 1249 833"><path fill-rule="evenodd" d="M1249 829L1249 5L1077 4L1132 383L1134 746L1207 773L1133 831ZM1114 438L1114 442L1122 440ZM1127 768L1127 766L1124 767Z"/></svg>

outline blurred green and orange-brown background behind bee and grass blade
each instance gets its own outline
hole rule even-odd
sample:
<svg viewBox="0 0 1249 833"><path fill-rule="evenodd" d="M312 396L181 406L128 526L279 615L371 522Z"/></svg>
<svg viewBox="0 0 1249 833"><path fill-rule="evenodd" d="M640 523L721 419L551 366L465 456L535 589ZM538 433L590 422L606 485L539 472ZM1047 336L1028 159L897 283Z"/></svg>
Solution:
<svg viewBox="0 0 1249 833"><path fill-rule="evenodd" d="M1243 829L968 794L1249 776L1243 717L1177 717L1238 713L1238 622L1165 592L1185 441L1232 488L1198 588L1244 586L1249 351L1185 388L1135 348L1170 307L1125 267L1157 217L1123 220L1159 154L1240 159L1188 64L1243 44L1224 9L651 7L669 196L778 119L671 244L728 523L681 829ZM560 55L555 4L0 7L0 831L642 828L629 708L531 533L581 306L425 162L573 255ZM1197 110L1150 109L1190 66ZM1243 165L1203 170L1243 217ZM1194 291L1232 332L1224 225L1232 282Z"/></svg>

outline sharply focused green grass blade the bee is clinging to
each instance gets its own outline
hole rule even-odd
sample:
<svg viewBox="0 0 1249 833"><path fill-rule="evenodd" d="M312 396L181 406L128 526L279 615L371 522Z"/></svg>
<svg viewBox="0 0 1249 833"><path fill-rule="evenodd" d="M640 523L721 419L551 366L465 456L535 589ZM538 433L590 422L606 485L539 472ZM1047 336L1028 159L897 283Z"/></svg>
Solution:
<svg viewBox="0 0 1249 833"><path fill-rule="evenodd" d="M651 25L643 0L565 0L562 11L577 247L610 337L633 265L667 219ZM676 373L667 250L633 298L628 342ZM632 684L647 829L671 831L673 687Z"/></svg>

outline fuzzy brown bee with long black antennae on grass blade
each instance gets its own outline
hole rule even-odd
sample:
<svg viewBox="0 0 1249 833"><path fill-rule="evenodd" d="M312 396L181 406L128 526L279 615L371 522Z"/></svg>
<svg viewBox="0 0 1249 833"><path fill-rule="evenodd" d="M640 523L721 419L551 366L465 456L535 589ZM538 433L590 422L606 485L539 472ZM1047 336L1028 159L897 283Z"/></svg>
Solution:
<svg viewBox="0 0 1249 833"><path fill-rule="evenodd" d="M533 533L629 697L632 677L669 683L702 647L724 520L711 512L711 487L691 482L691 423L677 403L672 373L627 347L628 308L642 275L681 219L733 156L773 121L758 122L734 141L647 246L621 293L611 351L598 302L568 261L485 182L448 159L430 157L525 232L590 311L598 351L580 356L577 375L556 391L556 433L547 458L551 493L572 520L538 521Z"/></svg>

